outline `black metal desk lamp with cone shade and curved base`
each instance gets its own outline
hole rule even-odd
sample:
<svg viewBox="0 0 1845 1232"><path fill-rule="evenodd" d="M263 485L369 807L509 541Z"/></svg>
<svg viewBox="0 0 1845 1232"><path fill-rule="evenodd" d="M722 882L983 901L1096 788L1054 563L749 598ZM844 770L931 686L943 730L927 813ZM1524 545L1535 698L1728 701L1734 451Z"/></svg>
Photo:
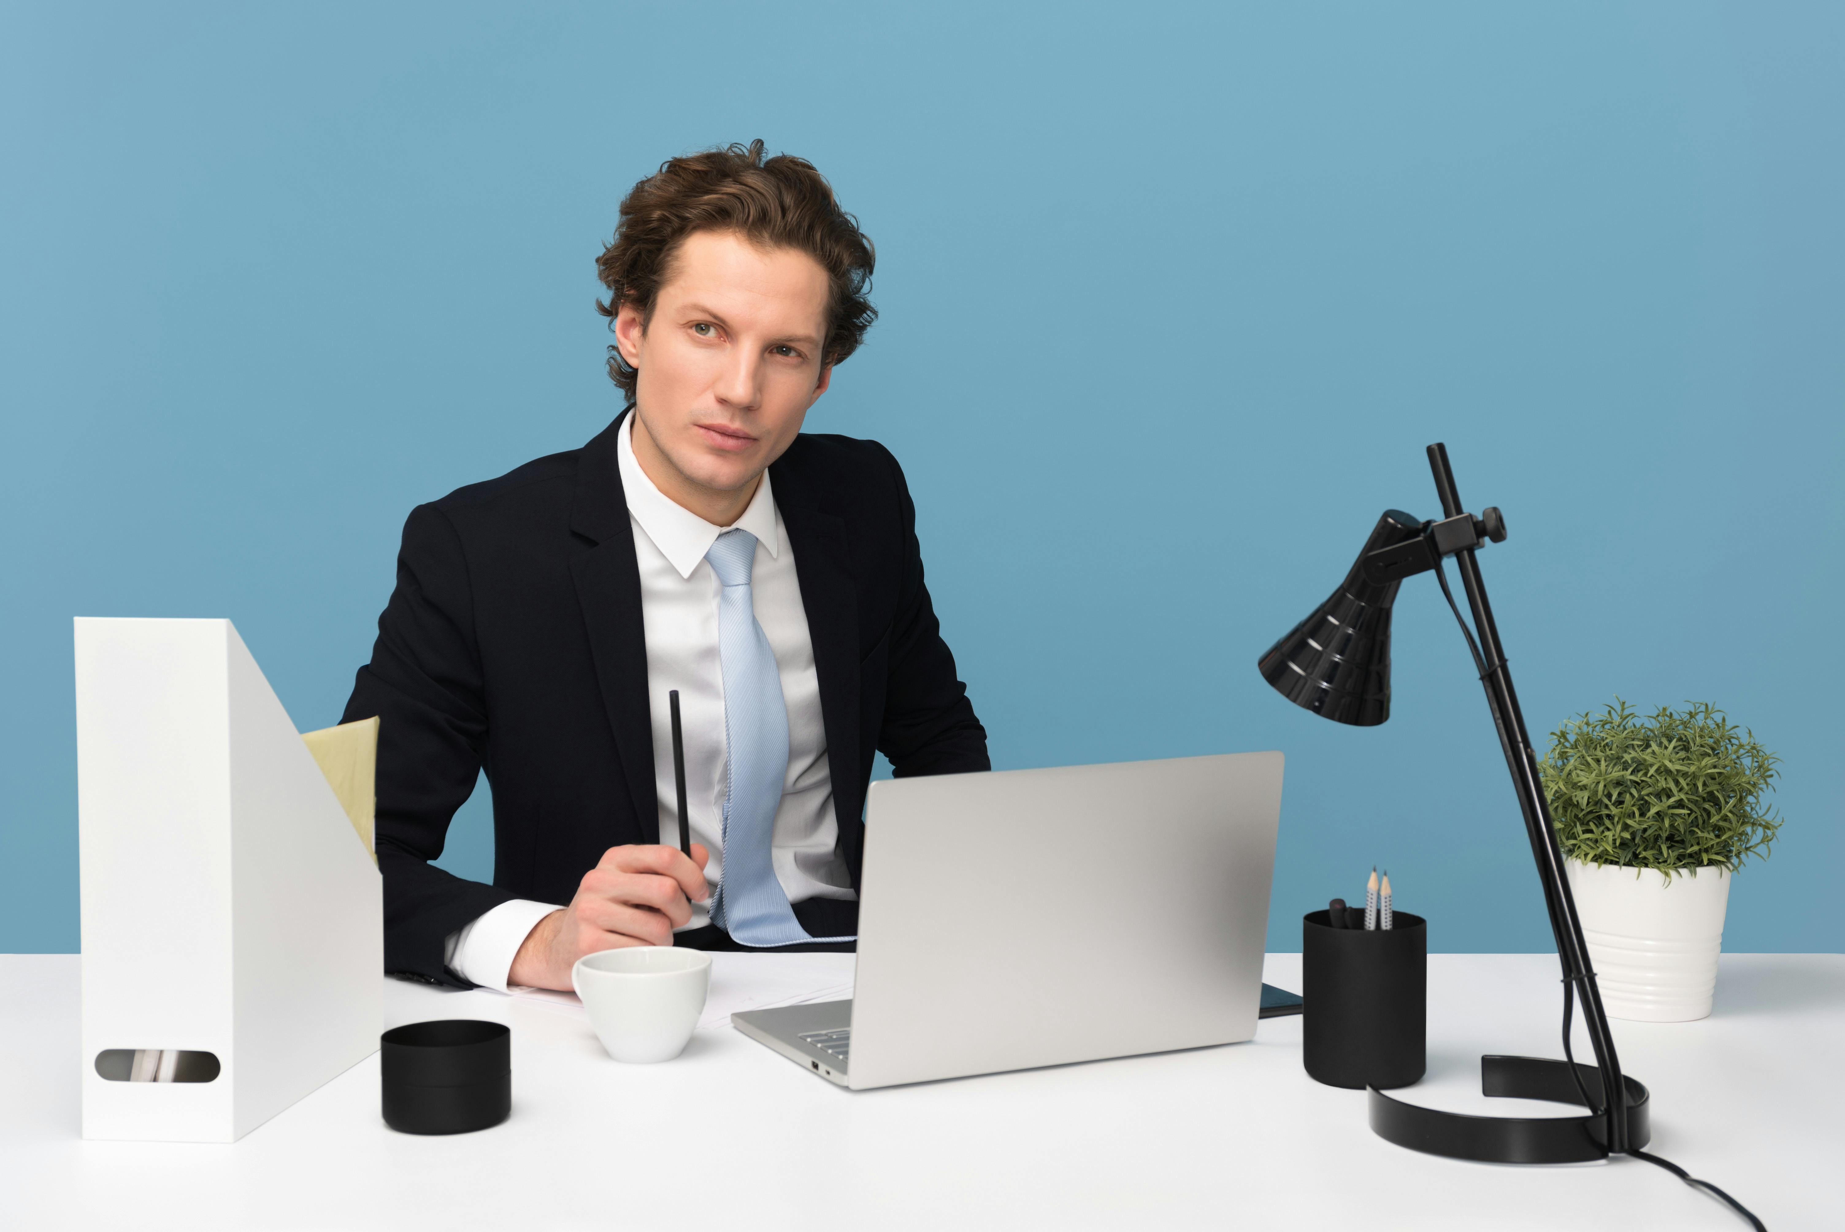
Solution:
<svg viewBox="0 0 1845 1232"><path fill-rule="evenodd" d="M1378 518L1365 540L1358 563L1345 583L1312 616L1293 627L1262 657L1262 677L1288 701L1323 714L1338 723L1375 727L1389 717L1389 609L1397 586L1411 574L1434 570L1441 592L1461 622L1461 633L1480 669L1487 690L1487 708L1506 749L1506 765L1518 793L1524 830L1531 839L1531 858L1544 885L1544 906L1550 909L1550 930L1557 937L1557 957L1563 959L1563 1055L1566 1060L1537 1057L1482 1057L1480 1083L1487 1096L1517 1099L1552 1099L1589 1108L1587 1116L1565 1118L1500 1118L1437 1112L1391 1099L1375 1086L1369 1088L1371 1129L1400 1147L1493 1164L1579 1164L1640 1151L1648 1143L1646 1086L1624 1077L1614 1057L1614 1038L1609 1035L1596 974L1589 966L1589 946L1576 917L1576 900L1563 876L1563 848L1544 804L1544 788L1537 776L1537 754L1524 730L1518 695L1506 669L1506 651L1500 647L1493 607L1480 579L1474 550L1487 540L1504 542L1506 522L1498 509L1487 509L1478 518L1461 511L1454 491L1454 472L1448 468L1448 450L1428 446L1428 465L1435 472L1435 492L1441 496L1441 520L1417 518L1389 509ZM1461 570L1467 603L1474 612L1478 642L1441 570L1441 559L1452 555ZM1576 1064L1570 1053L1572 994L1583 1000L1583 1020L1594 1046L1596 1064ZM1306 1013L1314 1013L1308 1005ZM1624 1099L1607 1099L1607 1092L1622 1092ZM1729 1201L1725 1197L1725 1201Z"/></svg>

